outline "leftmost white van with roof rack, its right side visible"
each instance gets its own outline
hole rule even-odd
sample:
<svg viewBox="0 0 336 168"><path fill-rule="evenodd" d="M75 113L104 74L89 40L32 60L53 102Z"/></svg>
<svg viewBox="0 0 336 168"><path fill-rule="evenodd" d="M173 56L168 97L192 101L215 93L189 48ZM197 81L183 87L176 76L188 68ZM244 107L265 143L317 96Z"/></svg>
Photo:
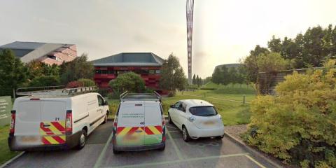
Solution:
<svg viewBox="0 0 336 168"><path fill-rule="evenodd" d="M18 92L8 145L11 151L36 148L83 148L87 135L106 123L109 106L93 87Z"/></svg>

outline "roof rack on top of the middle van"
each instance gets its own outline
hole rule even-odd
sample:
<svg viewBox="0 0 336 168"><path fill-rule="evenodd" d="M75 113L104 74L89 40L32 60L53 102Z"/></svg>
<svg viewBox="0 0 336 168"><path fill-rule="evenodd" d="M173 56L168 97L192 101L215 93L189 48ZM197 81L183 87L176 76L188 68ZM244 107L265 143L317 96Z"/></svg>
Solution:
<svg viewBox="0 0 336 168"><path fill-rule="evenodd" d="M129 93L126 91L120 94L120 102L125 100L158 100L161 102L161 95L155 91L153 93Z"/></svg>

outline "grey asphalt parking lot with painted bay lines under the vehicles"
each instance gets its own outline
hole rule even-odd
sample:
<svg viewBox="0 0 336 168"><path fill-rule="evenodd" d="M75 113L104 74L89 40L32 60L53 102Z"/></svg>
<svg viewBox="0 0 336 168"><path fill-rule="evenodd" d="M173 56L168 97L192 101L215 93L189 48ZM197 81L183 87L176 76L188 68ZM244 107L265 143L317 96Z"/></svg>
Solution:
<svg viewBox="0 0 336 168"><path fill-rule="evenodd" d="M7 167L272 167L253 158L227 137L188 143L174 125L167 125L165 151L112 152L113 123L101 125L83 150L28 152Z"/></svg>

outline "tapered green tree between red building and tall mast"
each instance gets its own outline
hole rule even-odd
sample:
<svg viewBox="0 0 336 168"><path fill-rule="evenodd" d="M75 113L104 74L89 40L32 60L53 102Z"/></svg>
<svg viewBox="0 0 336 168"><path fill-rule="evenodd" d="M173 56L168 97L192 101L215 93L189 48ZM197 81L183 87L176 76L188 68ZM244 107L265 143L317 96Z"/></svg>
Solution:
<svg viewBox="0 0 336 168"><path fill-rule="evenodd" d="M160 87L164 90L170 90L172 95L176 89L183 90L187 84L186 76L180 65L179 59L173 54L162 64Z"/></svg>

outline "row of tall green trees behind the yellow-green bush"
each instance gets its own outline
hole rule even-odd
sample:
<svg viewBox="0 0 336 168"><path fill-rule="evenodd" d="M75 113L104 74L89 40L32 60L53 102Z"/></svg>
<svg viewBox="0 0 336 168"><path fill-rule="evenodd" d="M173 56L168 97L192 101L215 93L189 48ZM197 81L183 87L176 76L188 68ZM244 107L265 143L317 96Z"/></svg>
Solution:
<svg viewBox="0 0 336 168"><path fill-rule="evenodd" d="M336 26L308 28L295 38L272 36L267 48L256 45L242 62L246 79L256 83L260 71L272 72L284 69L300 69L323 66L327 59L336 58ZM272 57L272 59L270 59ZM271 63L271 64L269 64ZM274 67L275 66L275 67Z"/></svg>

